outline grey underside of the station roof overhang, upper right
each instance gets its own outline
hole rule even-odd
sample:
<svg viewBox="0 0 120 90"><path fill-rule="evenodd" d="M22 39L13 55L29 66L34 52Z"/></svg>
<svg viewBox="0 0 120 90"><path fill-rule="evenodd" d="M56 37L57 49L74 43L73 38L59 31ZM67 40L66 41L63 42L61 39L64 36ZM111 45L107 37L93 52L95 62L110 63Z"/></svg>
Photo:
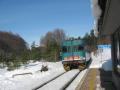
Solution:
<svg viewBox="0 0 120 90"><path fill-rule="evenodd" d="M103 20L102 35L111 35L120 27L120 0L109 0Z"/></svg>

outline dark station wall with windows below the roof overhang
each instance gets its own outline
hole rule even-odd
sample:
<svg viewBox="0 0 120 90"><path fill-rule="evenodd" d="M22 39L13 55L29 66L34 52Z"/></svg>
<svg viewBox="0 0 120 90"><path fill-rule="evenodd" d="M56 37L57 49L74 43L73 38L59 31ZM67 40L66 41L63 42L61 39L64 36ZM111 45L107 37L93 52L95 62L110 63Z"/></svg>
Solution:
<svg viewBox="0 0 120 90"><path fill-rule="evenodd" d="M113 81L120 90L120 28L111 36L112 38L112 60L113 60Z"/></svg>

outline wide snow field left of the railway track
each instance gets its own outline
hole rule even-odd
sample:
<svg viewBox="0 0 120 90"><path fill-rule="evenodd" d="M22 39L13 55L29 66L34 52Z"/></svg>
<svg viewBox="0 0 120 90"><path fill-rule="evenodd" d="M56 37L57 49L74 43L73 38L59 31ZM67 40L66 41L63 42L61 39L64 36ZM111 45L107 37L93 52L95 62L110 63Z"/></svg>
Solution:
<svg viewBox="0 0 120 90"><path fill-rule="evenodd" d="M48 65L48 71L40 72L43 64ZM0 90L31 90L63 72L65 71L61 62L29 63L14 71L0 69ZM29 74L14 76L22 73Z"/></svg>

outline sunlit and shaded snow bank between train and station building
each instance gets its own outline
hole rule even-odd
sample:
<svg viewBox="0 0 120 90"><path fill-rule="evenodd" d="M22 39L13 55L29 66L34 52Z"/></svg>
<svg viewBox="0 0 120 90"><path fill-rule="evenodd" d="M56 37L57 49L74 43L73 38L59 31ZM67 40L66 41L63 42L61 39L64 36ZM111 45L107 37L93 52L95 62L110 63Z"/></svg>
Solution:
<svg viewBox="0 0 120 90"><path fill-rule="evenodd" d="M92 63L90 68L103 68L106 71L111 71L111 49L98 50L95 55L92 53Z"/></svg>

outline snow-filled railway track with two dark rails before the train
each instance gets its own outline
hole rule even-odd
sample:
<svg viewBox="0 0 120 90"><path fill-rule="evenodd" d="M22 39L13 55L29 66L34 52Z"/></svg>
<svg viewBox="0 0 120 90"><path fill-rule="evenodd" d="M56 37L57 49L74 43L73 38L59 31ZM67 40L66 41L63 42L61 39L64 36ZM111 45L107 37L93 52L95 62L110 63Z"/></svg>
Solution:
<svg viewBox="0 0 120 90"><path fill-rule="evenodd" d="M65 90L79 73L78 69L64 72L32 90Z"/></svg>

